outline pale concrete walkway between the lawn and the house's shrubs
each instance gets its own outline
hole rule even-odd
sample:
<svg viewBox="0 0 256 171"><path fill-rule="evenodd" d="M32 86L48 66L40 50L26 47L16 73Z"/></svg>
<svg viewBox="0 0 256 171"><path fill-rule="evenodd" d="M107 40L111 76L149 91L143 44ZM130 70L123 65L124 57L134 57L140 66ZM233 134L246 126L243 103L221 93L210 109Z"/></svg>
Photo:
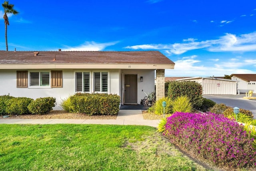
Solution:
<svg viewBox="0 0 256 171"><path fill-rule="evenodd" d="M145 120L142 110L119 110L116 119L0 119L0 124L108 124L108 125L148 125L157 127L159 120Z"/></svg>

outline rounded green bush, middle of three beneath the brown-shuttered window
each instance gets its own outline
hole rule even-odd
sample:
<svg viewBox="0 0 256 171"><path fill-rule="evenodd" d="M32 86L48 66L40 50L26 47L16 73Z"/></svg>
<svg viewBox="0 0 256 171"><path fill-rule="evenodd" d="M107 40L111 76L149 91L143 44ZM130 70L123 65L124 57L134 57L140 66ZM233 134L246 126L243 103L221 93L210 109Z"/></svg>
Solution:
<svg viewBox="0 0 256 171"><path fill-rule="evenodd" d="M6 103L6 113L23 115L30 113L28 110L28 105L33 101L33 99L28 97L14 97L7 101Z"/></svg>

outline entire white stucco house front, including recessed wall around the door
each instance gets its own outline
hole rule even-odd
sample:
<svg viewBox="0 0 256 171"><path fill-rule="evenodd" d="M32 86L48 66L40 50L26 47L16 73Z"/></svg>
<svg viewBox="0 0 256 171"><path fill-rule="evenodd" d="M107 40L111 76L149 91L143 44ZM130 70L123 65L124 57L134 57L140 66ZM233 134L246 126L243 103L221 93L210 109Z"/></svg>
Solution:
<svg viewBox="0 0 256 171"><path fill-rule="evenodd" d="M38 70L29 70L38 71ZM43 70L49 71L50 70ZM36 99L39 97L55 97L56 98L56 107L54 110L60 110L60 103L62 99L66 99L70 95L75 93L75 72L82 71L107 71L109 72L109 92L112 94L117 94L123 96L123 74L137 74L138 78L138 100L137 103L140 103L140 100L143 99L148 92L154 91L154 70L71 70L66 69L62 70L62 79L63 87L62 88L44 88L44 87L28 87L28 88L17 88L16 87L16 70L0 70L0 95L10 94L14 97L30 97ZM140 77L143 77L143 82L140 82Z"/></svg>

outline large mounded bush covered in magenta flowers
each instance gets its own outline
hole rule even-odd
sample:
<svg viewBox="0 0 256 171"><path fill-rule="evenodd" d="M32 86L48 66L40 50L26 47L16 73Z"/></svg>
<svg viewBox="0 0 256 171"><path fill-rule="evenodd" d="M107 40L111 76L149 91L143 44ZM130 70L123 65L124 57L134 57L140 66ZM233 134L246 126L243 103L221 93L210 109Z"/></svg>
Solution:
<svg viewBox="0 0 256 171"><path fill-rule="evenodd" d="M218 167L256 167L256 149L243 126L222 114L176 112L163 134Z"/></svg>

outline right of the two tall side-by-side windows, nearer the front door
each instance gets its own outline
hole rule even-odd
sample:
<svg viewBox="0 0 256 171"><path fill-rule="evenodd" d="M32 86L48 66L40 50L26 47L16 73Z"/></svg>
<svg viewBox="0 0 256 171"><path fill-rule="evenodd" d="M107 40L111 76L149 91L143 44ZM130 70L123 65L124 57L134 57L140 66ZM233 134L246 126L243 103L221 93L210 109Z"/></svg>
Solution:
<svg viewBox="0 0 256 171"><path fill-rule="evenodd" d="M108 92L108 72L94 72L94 91Z"/></svg>

